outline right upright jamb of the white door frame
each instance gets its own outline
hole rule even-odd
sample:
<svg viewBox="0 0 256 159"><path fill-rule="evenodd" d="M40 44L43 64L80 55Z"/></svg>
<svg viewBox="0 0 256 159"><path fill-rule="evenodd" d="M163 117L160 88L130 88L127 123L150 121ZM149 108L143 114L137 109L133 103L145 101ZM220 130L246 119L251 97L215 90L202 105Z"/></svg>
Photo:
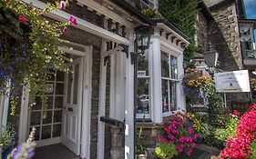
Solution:
<svg viewBox="0 0 256 159"><path fill-rule="evenodd" d="M91 94L92 94L92 54L93 46L85 46L86 54L83 61L83 105L82 105L82 128L81 128L81 153L82 158L90 158L90 116L91 116Z"/></svg>

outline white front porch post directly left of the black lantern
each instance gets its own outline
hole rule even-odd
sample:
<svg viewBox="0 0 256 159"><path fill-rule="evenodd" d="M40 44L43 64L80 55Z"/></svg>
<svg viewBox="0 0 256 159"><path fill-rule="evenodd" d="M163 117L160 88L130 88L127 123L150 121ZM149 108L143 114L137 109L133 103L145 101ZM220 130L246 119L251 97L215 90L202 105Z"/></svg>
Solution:
<svg viewBox="0 0 256 159"><path fill-rule="evenodd" d="M129 33L129 39L131 39L131 44L128 46L128 53L134 52L134 43L133 43L133 31ZM125 159L134 158L134 100L133 100L133 88L134 88L134 65L131 65L131 56L129 55L126 58L126 97L125 97L125 118L126 118L126 127L125 127Z"/></svg>

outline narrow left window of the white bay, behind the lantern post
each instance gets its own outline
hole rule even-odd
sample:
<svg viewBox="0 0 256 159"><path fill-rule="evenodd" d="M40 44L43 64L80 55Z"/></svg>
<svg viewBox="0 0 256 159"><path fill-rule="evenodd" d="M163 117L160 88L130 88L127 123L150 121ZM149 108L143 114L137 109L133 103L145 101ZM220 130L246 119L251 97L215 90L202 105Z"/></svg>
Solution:
<svg viewBox="0 0 256 159"><path fill-rule="evenodd" d="M138 57L138 108L137 117L150 117L148 52Z"/></svg>

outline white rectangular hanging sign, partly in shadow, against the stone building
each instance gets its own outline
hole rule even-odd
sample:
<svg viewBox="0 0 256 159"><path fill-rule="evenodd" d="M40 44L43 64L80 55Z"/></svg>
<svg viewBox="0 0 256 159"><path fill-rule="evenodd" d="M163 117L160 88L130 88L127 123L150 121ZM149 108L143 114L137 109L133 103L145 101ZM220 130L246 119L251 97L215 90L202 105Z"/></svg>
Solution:
<svg viewBox="0 0 256 159"><path fill-rule="evenodd" d="M218 92L251 92L248 70L217 73L214 80Z"/></svg>

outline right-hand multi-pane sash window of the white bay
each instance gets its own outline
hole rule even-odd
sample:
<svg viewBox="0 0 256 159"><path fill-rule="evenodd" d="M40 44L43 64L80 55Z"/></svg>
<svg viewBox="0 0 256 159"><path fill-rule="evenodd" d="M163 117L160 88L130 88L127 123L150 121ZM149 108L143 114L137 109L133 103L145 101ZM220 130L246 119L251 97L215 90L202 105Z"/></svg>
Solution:
<svg viewBox="0 0 256 159"><path fill-rule="evenodd" d="M177 109L176 85L178 82L177 58L161 53L162 113Z"/></svg>

